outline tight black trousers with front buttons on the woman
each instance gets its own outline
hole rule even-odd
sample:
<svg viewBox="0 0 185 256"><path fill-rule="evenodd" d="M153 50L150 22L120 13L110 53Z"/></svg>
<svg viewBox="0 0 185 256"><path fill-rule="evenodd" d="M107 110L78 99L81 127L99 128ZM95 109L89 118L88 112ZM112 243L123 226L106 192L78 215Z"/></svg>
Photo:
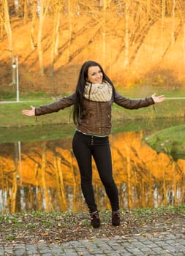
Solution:
<svg viewBox="0 0 185 256"><path fill-rule="evenodd" d="M92 157L105 191L110 200L112 211L118 211L118 189L113 180L109 139L75 132L72 148L80 169L81 188L90 212L97 211L92 186Z"/></svg>

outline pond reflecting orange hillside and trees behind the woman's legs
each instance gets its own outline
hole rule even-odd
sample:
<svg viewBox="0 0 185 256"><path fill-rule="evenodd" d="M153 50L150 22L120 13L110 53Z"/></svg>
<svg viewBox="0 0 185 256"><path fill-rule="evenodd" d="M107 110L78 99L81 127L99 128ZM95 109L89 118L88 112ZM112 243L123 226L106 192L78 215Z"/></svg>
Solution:
<svg viewBox="0 0 185 256"><path fill-rule="evenodd" d="M185 159L156 151L146 138L184 119L122 121L110 135L113 176L121 208L185 202ZM115 128L116 127L116 128ZM72 152L72 124L0 129L0 211L88 211ZM184 135L185 138L185 131ZM175 140L175 139L174 139ZM174 152L173 152L174 153ZM110 209L94 167L99 210Z"/></svg>

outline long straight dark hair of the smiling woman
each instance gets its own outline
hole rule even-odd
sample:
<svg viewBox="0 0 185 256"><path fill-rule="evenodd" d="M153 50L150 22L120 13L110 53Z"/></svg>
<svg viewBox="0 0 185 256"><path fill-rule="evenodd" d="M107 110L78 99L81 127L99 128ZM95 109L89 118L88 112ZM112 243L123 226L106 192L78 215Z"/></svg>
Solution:
<svg viewBox="0 0 185 256"><path fill-rule="evenodd" d="M98 66L101 69L103 74L102 80L106 80L108 83L110 83L111 86L113 86L112 81L110 80L110 78L107 77L107 75L105 75L105 72L99 63L97 63L96 61L86 61L80 69L78 83L75 91L75 103L73 108L73 121L75 124L79 124L80 116L83 115L83 92L85 89L86 80L88 78L88 68L94 66ZM113 95L114 92L115 89L113 86Z"/></svg>

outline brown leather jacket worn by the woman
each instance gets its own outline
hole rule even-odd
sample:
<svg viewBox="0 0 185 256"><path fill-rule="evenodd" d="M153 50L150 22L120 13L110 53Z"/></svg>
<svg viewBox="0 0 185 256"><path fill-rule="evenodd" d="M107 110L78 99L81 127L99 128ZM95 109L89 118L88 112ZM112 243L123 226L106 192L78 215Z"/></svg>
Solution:
<svg viewBox="0 0 185 256"><path fill-rule="evenodd" d="M35 116L58 112L59 110L70 107L74 104L74 99L75 93L58 100L58 102L35 108ZM110 134L111 107L113 102L128 109L144 108L154 104L154 100L151 97L146 99L127 99L117 92L115 93L115 97L112 97L109 102L94 102L84 98L84 113L80 118L80 124L77 125L77 129L87 134Z"/></svg>

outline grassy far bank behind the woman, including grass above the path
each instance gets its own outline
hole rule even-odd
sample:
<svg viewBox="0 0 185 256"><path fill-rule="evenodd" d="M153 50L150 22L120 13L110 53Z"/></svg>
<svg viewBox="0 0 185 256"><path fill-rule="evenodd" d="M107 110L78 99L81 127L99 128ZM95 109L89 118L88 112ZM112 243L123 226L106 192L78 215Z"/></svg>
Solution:
<svg viewBox="0 0 185 256"><path fill-rule="evenodd" d="M134 120L142 118L184 118L185 116L185 89L159 89L153 86L135 86L132 88L118 89L125 97L144 98L151 96L154 92L164 94L167 99L161 104L156 104L149 108L140 108L139 110L127 110L113 105L113 122L118 120ZM62 97L62 96L61 96ZM179 97L179 99L176 99ZM51 113L45 116L27 117L21 113L22 109L29 109L30 105L46 105L56 101L49 95L37 93L20 95L20 102L13 98L3 98L6 102L0 102L0 127L33 127L43 126L45 124L69 124L72 123L72 108L61 110L58 113ZM14 102L12 102L14 100Z"/></svg>

